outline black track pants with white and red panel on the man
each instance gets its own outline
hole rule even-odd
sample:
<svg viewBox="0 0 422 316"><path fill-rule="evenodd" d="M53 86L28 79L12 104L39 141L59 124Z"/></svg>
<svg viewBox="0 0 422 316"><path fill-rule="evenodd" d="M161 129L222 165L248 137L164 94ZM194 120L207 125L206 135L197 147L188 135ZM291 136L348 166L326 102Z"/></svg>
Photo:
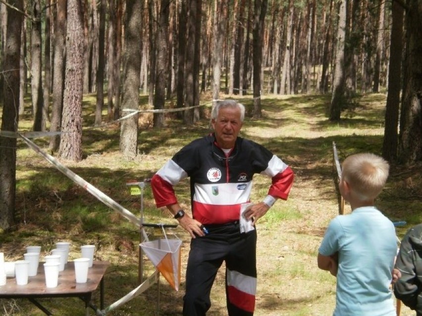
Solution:
<svg viewBox="0 0 422 316"><path fill-rule="evenodd" d="M239 223L207 226L209 234L191 240L186 270L184 316L205 316L216 273L226 263L229 316L252 316L257 287L256 230L240 233Z"/></svg>

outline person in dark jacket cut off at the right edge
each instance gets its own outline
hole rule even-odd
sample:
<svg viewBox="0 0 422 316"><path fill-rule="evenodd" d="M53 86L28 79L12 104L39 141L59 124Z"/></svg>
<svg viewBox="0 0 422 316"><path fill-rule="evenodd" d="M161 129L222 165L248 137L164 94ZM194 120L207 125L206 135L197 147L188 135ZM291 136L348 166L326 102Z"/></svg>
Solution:
<svg viewBox="0 0 422 316"><path fill-rule="evenodd" d="M394 295L422 316L422 224L410 228L403 237L395 268L401 277L394 284Z"/></svg>

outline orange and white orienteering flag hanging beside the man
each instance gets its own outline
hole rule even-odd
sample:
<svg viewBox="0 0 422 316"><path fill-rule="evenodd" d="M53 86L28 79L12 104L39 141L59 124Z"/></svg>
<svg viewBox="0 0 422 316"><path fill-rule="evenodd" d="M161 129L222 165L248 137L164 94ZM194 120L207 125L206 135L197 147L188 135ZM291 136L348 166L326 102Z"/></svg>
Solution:
<svg viewBox="0 0 422 316"><path fill-rule="evenodd" d="M180 284L180 239L157 239L144 241L140 244L142 250L150 258L157 270L176 291Z"/></svg>

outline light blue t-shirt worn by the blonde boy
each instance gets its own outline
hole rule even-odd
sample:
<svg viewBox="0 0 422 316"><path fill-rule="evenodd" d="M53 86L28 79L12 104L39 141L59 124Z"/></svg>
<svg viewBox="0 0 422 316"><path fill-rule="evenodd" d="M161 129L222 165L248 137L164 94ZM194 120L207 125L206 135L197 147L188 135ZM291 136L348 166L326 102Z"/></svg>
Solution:
<svg viewBox="0 0 422 316"><path fill-rule="evenodd" d="M375 207L334 218L318 252L339 252L333 316L395 316L390 290L397 254L393 223Z"/></svg>

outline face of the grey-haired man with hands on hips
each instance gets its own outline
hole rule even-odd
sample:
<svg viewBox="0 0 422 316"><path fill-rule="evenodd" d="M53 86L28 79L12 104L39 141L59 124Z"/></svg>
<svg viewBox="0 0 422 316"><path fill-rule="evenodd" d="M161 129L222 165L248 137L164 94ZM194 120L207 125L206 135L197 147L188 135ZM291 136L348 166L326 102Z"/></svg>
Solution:
<svg viewBox="0 0 422 316"><path fill-rule="evenodd" d="M240 120L240 109L221 108L217 118L211 122L218 145L224 149L233 148L243 124Z"/></svg>

